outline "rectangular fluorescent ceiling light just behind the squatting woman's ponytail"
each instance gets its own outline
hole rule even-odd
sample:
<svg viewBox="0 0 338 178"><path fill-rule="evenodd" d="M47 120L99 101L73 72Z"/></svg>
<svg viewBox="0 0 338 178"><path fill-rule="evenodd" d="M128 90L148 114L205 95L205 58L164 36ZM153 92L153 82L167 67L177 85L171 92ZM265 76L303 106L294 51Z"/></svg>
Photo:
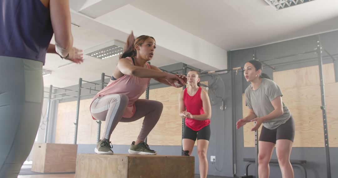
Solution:
<svg viewBox="0 0 338 178"><path fill-rule="evenodd" d="M106 59L122 54L124 51L124 43L121 41L113 40L84 51L84 54L88 56L92 56L98 59Z"/></svg>

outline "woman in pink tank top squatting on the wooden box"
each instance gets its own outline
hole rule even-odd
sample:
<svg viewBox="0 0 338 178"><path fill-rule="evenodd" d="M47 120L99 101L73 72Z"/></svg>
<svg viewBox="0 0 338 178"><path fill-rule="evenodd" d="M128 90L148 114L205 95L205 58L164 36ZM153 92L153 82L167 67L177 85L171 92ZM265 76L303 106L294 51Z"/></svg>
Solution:
<svg viewBox="0 0 338 178"><path fill-rule="evenodd" d="M163 105L159 101L139 99L151 78L173 87L182 87L187 78L163 72L148 64L154 56L155 39L142 35L135 39L131 32L124 53L115 67L108 85L98 92L91 103L93 119L105 121L105 130L97 143L97 154L113 154L110 136L119 122L132 122L144 117L140 134L128 150L131 154L157 154L144 140L158 122ZM127 134L127 133L126 133Z"/></svg>

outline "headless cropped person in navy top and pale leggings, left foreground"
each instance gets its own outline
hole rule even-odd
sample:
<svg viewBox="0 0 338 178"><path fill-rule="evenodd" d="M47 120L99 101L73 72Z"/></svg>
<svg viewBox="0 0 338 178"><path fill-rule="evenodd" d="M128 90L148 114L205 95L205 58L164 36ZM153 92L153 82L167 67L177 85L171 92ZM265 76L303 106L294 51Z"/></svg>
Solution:
<svg viewBox="0 0 338 178"><path fill-rule="evenodd" d="M46 53L83 60L73 47L69 0L0 2L0 177L14 178L39 128Z"/></svg>

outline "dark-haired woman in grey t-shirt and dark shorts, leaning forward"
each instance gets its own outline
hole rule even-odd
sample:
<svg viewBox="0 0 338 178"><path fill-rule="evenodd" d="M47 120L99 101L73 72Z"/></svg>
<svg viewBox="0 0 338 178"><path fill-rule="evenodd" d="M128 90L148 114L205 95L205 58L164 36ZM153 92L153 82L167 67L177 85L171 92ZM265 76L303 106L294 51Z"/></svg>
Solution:
<svg viewBox="0 0 338 178"><path fill-rule="evenodd" d="M273 148L282 171L283 178L293 178L290 154L294 139L295 124L289 109L282 102L282 91L270 79L263 78L262 64L251 60L244 65L244 76L251 84L245 90L245 105L249 114L237 121L237 129L247 122L256 121L251 131L263 124L258 143L258 174L260 178L269 177L269 161Z"/></svg>

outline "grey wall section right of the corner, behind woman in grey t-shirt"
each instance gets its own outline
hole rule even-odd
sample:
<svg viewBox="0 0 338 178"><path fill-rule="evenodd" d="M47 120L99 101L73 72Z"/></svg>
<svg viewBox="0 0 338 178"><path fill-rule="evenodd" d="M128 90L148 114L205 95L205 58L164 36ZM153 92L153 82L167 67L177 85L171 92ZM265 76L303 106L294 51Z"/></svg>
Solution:
<svg viewBox="0 0 338 178"><path fill-rule="evenodd" d="M338 57L338 31L323 33L320 35L322 46L327 49L334 57ZM316 36L309 36L274 44L269 44L266 46L261 46L257 48L250 48L244 50L237 50L230 52L230 62L231 67L244 66L245 62L252 59L252 54L254 50L256 50L256 56L260 60L274 58L278 56L284 56L289 54L296 54L305 51L311 51L315 49L317 42ZM328 57L328 55L323 52L323 63L331 63L332 59ZM272 61L268 61L267 63L273 66L276 66L276 71L288 70L300 67L307 67L318 65L317 54L305 54L298 55L283 59L276 59ZM298 62L295 62L298 60ZM286 62L286 63L285 63ZM337 62L335 63L335 71L338 71ZM267 73L272 78L273 70L265 67L263 69L264 73ZM337 76L337 75L336 75ZM292 76L290 76L292 77ZM338 78L336 77L336 80ZM242 93L245 88L248 86L248 82L244 80L243 74L235 75L233 78L233 89L234 93L234 106L235 112L233 115L234 120L238 120L242 118ZM320 93L318 93L320 94ZM292 111L291 111L292 113ZM297 129L297 128L296 128ZM329 135L330 139L330 135ZM242 161L243 158L254 158L255 152L254 148L244 148L243 147L243 128L236 130L236 161L237 161L237 175L244 175L244 166L246 162ZM338 148L330 148L331 155L331 174L333 177L338 174ZM272 155L273 159L276 159L275 151ZM325 153L324 148L293 148L291 153L291 159L296 160L307 160L307 164L305 165L308 178L318 178L318 177L326 177L326 165L325 165ZM294 169L295 177L301 177L301 172L298 168ZM249 174L255 174L253 166L249 167ZM280 169L276 166L271 166L270 177L280 178L281 173Z"/></svg>

